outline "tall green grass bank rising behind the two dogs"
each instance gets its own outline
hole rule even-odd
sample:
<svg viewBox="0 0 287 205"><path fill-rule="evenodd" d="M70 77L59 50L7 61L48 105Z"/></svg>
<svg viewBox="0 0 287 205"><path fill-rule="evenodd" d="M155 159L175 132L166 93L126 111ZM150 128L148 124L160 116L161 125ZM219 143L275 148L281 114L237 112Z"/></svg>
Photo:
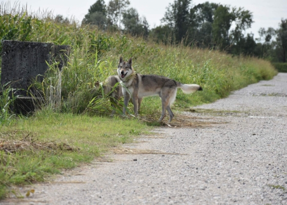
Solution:
<svg viewBox="0 0 287 205"><path fill-rule="evenodd" d="M63 112L83 113L88 107L95 113L110 110L105 100L94 101L91 107L91 90L95 81L104 81L109 75L116 74L120 55L126 59L133 57L133 67L139 73L163 75L203 87L204 92L194 95L179 92L177 98L181 106L209 103L226 97L232 90L270 79L276 74L270 63L253 57L232 57L219 51L154 44L120 32L78 26L75 22L63 25L56 23L50 13L35 16L30 15L27 9L16 10L7 6L0 11L0 25L4 30L0 36L2 39L9 37L72 46L68 65L61 73L53 71L54 75L47 76L42 88L48 95L48 90L57 87L56 76L61 76L61 100L58 104Z"/></svg>

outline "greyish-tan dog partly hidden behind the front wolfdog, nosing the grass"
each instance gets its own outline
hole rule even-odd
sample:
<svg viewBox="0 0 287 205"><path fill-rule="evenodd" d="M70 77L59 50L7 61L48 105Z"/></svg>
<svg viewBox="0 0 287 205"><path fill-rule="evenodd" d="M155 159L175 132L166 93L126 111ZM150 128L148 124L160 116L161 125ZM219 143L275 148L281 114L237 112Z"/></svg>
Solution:
<svg viewBox="0 0 287 205"><path fill-rule="evenodd" d="M122 88L120 86L121 80L117 75L111 75L109 76L104 83L99 83L99 81L96 81L95 83L95 88L93 89L93 93L97 93L98 97L101 96L100 92L100 86L103 86L104 90L104 95L109 95L111 105L113 108L115 108L115 105L117 105L117 101L123 97L124 95L122 94ZM142 97L138 98L137 104L138 104L138 110L140 110L140 104L142 101ZM112 114L115 113L115 110L112 111Z"/></svg>

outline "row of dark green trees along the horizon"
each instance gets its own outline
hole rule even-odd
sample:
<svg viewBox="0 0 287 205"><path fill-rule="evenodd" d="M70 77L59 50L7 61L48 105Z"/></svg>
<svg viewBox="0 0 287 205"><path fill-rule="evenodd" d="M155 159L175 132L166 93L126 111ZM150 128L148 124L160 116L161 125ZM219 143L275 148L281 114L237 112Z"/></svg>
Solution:
<svg viewBox="0 0 287 205"><path fill-rule="evenodd" d="M260 28L259 38L254 38L252 33L245 34L253 23L251 11L209 2L193 6L191 2L175 0L167 7L161 25L150 29L147 19L129 7L128 0L110 0L107 5L104 0L97 0L82 24L120 30L165 44L220 49L234 55L286 62L287 19L282 19L277 29Z"/></svg>

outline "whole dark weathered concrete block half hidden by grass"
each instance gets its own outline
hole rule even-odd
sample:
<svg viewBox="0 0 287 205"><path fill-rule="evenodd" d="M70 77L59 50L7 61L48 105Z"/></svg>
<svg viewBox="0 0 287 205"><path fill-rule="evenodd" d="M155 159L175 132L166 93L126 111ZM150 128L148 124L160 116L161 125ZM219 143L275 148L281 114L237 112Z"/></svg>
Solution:
<svg viewBox="0 0 287 205"><path fill-rule="evenodd" d="M68 61L70 46L55 46L51 43L19 42L4 40L2 42L1 84L11 82L11 87L18 90L15 94L21 95L17 101L21 111L34 110L31 96L27 93L32 81L38 75L44 75L48 64L53 60L59 63L61 70ZM42 77L37 77L42 81Z"/></svg>

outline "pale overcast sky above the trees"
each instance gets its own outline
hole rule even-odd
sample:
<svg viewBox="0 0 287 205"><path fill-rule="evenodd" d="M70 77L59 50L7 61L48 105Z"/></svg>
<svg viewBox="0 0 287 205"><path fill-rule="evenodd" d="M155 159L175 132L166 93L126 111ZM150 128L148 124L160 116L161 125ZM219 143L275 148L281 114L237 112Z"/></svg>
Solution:
<svg viewBox="0 0 287 205"><path fill-rule="evenodd" d="M105 0L106 4L109 0ZM8 1L3 1L8 2ZM81 22L88 9L96 0L20 0L10 1L11 6L18 2L28 6L32 11L52 10L54 15L60 14L65 17L74 16ZM140 16L145 16L149 22L150 28L160 25L160 19L166 11L169 3L174 0L130 0L130 7L137 9ZM207 2L206 0L193 0L192 4L197 5ZM220 3L230 5L231 7L243 7L253 13L253 21L251 29L247 32L252 32L255 37L258 36L259 28L278 28L281 18L287 18L287 1L286 0L211 0L212 3Z"/></svg>

